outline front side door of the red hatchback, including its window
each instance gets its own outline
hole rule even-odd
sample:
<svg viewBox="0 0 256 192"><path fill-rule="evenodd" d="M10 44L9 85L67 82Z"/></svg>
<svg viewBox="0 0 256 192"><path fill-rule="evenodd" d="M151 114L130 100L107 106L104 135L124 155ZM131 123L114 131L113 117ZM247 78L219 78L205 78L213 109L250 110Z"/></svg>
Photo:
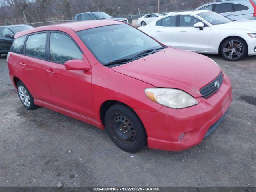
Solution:
<svg viewBox="0 0 256 192"><path fill-rule="evenodd" d="M68 60L86 60L70 36L50 32L50 61L46 62L46 76L52 94L52 104L93 118L91 72L68 71Z"/></svg>

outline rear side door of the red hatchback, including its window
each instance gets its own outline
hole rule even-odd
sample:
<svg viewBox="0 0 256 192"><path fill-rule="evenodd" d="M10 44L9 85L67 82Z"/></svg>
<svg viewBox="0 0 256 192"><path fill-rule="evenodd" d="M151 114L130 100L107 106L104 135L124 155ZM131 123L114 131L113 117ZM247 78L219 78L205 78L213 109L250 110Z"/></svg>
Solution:
<svg viewBox="0 0 256 192"><path fill-rule="evenodd" d="M52 97L46 80L46 32L30 34L20 55L22 82L36 100L51 102Z"/></svg>

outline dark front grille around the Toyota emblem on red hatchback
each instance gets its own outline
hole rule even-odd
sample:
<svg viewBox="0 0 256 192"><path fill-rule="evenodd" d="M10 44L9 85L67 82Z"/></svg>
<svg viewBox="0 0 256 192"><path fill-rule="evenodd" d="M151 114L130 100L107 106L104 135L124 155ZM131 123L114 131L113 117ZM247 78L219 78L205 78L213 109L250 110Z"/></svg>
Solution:
<svg viewBox="0 0 256 192"><path fill-rule="evenodd" d="M206 86L204 86L202 89L200 89L200 93L202 94L202 96L204 98L208 98L210 97L212 94L214 94L215 92L217 92L220 88L220 86L222 85L222 81L223 81L223 76L222 76L222 72L218 75L218 77L216 77L212 82L210 82L209 84L207 84ZM216 87L216 82L219 83L219 87Z"/></svg>

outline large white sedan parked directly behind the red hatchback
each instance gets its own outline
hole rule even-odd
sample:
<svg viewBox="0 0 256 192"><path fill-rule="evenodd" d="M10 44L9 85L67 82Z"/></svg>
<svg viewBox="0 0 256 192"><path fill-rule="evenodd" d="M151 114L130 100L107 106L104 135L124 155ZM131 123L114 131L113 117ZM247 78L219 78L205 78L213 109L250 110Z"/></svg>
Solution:
<svg viewBox="0 0 256 192"><path fill-rule="evenodd" d="M232 21L212 11L178 12L139 29L167 46L229 61L256 55L256 21Z"/></svg>

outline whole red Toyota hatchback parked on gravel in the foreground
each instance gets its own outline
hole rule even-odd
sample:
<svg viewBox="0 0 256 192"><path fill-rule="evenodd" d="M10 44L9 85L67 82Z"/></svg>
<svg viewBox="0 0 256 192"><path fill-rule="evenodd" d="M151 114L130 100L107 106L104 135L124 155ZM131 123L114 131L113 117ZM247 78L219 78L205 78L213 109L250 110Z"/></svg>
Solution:
<svg viewBox="0 0 256 192"><path fill-rule="evenodd" d="M216 130L232 100L216 62L113 20L19 32L7 61L27 109L44 106L106 128L128 152L146 143L190 148Z"/></svg>

